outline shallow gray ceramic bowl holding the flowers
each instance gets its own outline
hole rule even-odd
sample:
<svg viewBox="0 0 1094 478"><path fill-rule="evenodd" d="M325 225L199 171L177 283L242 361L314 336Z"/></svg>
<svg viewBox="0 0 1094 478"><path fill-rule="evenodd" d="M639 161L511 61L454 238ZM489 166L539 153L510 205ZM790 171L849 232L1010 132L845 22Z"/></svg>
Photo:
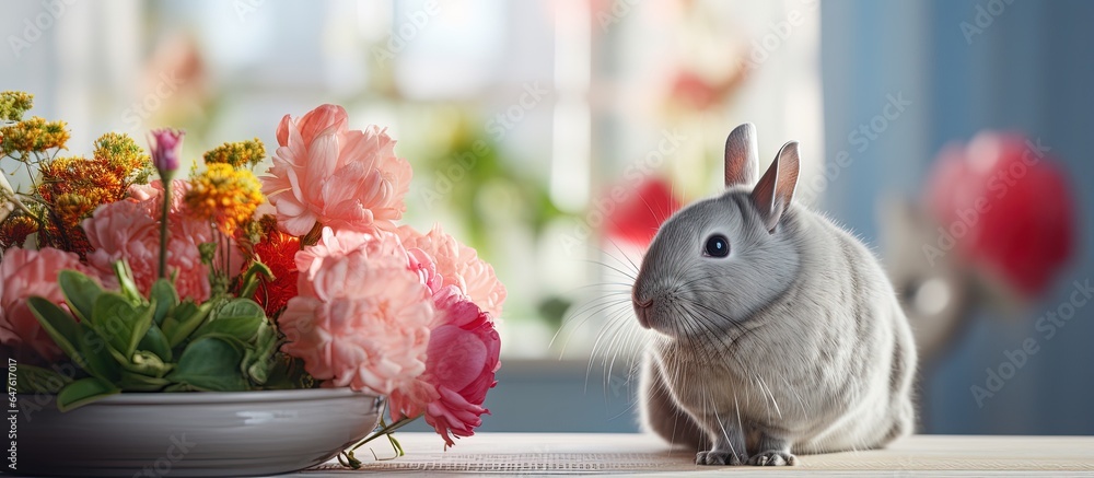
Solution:
<svg viewBox="0 0 1094 478"><path fill-rule="evenodd" d="M348 388L120 394L66 413L49 396L19 400L19 474L125 477L304 469L375 429L384 404Z"/></svg>

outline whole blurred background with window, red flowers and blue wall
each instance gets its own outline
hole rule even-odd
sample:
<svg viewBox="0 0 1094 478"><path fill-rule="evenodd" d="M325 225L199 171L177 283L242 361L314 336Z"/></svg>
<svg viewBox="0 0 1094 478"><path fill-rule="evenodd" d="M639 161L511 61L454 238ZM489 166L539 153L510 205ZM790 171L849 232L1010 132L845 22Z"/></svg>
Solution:
<svg viewBox="0 0 1094 478"><path fill-rule="evenodd" d="M883 259L926 433L1094 433L1094 3L1080 0L14 1L0 90L186 155L344 105L415 168L406 222L509 289L485 431L635 431L627 294L725 135ZM19 171L5 165L15 185Z"/></svg>

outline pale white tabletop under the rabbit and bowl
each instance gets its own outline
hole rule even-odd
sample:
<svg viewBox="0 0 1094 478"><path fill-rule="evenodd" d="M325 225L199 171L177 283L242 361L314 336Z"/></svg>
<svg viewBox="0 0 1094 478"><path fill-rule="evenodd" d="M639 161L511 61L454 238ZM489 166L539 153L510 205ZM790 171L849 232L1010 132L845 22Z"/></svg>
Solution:
<svg viewBox="0 0 1094 478"><path fill-rule="evenodd" d="M386 440L358 451L359 470L337 462L298 475L586 475L765 474L765 476L1094 476L1094 436L916 435L885 450L799 456L794 467L707 467L652 435L595 433L479 433L443 451L440 436L397 433L406 455Z"/></svg>

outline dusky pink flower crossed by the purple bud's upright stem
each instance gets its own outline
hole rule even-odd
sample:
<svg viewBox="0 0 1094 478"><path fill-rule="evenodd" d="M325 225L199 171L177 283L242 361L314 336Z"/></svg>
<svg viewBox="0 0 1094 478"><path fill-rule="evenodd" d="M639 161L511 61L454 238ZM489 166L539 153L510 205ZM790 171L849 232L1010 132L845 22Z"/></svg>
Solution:
<svg viewBox="0 0 1094 478"><path fill-rule="evenodd" d="M147 203L126 199L100 206L91 218L83 220L88 241L95 248L88 255L88 263L104 276L113 276L114 263L128 260L137 288L144 294L152 289L160 267L160 222L150 215L149 209ZM195 230L206 224L187 225L173 220L172 224L175 223L168 231L168 276L178 275L175 287L179 296L205 301L210 292L209 267L201 263L198 244L207 240Z"/></svg>

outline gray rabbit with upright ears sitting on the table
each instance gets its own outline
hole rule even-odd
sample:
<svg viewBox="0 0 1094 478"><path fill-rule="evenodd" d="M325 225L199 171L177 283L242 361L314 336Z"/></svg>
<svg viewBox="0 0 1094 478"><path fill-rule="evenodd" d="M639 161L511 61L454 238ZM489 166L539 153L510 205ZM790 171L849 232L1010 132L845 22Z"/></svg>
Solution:
<svg viewBox="0 0 1094 478"><path fill-rule="evenodd" d="M698 465L793 465L910 433L916 343L881 265L792 201L796 142L757 183L758 171L742 125L725 143L726 190L665 221L642 260L631 299L660 333L645 424L694 446Z"/></svg>

